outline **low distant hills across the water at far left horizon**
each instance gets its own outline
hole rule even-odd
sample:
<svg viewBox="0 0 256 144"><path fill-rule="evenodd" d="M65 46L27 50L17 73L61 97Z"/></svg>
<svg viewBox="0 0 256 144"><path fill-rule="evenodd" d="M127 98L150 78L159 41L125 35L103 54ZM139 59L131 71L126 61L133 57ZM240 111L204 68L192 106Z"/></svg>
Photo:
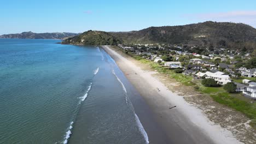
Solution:
<svg viewBox="0 0 256 144"><path fill-rule="evenodd" d="M8 39L65 39L78 35L77 33L33 33L23 32L17 34L3 34L0 38Z"/></svg>

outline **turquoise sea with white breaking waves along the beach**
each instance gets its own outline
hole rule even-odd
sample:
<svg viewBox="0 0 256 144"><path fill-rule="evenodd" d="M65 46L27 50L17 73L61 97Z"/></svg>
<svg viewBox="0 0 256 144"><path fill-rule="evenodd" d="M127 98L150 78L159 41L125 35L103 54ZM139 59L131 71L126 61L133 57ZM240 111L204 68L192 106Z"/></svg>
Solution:
<svg viewBox="0 0 256 144"><path fill-rule="evenodd" d="M57 42L0 39L0 143L147 143L113 59Z"/></svg>

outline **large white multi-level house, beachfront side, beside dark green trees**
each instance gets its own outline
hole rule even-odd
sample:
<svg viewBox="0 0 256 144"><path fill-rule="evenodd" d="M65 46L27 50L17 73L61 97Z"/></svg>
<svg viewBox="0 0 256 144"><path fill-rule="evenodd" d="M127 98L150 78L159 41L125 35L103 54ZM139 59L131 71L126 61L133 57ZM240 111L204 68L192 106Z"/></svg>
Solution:
<svg viewBox="0 0 256 144"><path fill-rule="evenodd" d="M231 82L229 75L224 75L223 72L217 71L216 73L211 73L206 71L206 73L197 73L199 77L205 77L205 79L214 79L219 85L225 85L228 82Z"/></svg>

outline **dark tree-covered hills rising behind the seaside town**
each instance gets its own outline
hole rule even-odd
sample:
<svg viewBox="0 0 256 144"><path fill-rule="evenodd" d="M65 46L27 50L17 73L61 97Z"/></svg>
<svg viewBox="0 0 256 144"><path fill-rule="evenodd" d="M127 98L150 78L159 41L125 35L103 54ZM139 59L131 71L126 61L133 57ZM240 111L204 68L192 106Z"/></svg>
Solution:
<svg viewBox="0 0 256 144"><path fill-rule="evenodd" d="M90 39L97 43L91 43ZM149 27L131 32L90 31L69 38L63 43L100 45L100 41L107 41L104 44L116 44L111 42L113 40L126 44L182 44L256 49L256 29L243 23L206 21L184 26Z"/></svg>

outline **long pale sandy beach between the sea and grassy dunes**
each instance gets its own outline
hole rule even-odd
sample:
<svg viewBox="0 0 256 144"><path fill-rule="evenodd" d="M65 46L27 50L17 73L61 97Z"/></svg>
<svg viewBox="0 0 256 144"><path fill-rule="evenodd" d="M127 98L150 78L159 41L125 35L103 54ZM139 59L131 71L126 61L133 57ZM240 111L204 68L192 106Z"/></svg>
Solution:
<svg viewBox="0 0 256 144"><path fill-rule="evenodd" d="M155 122L167 136L166 143L241 143L231 131L212 123L200 109L171 92L153 76L155 71L142 70L131 59L121 56L109 46L102 47L146 101ZM173 106L176 107L170 109ZM147 131L147 126L143 126ZM150 136L153 136L154 131L147 133L150 143Z"/></svg>

